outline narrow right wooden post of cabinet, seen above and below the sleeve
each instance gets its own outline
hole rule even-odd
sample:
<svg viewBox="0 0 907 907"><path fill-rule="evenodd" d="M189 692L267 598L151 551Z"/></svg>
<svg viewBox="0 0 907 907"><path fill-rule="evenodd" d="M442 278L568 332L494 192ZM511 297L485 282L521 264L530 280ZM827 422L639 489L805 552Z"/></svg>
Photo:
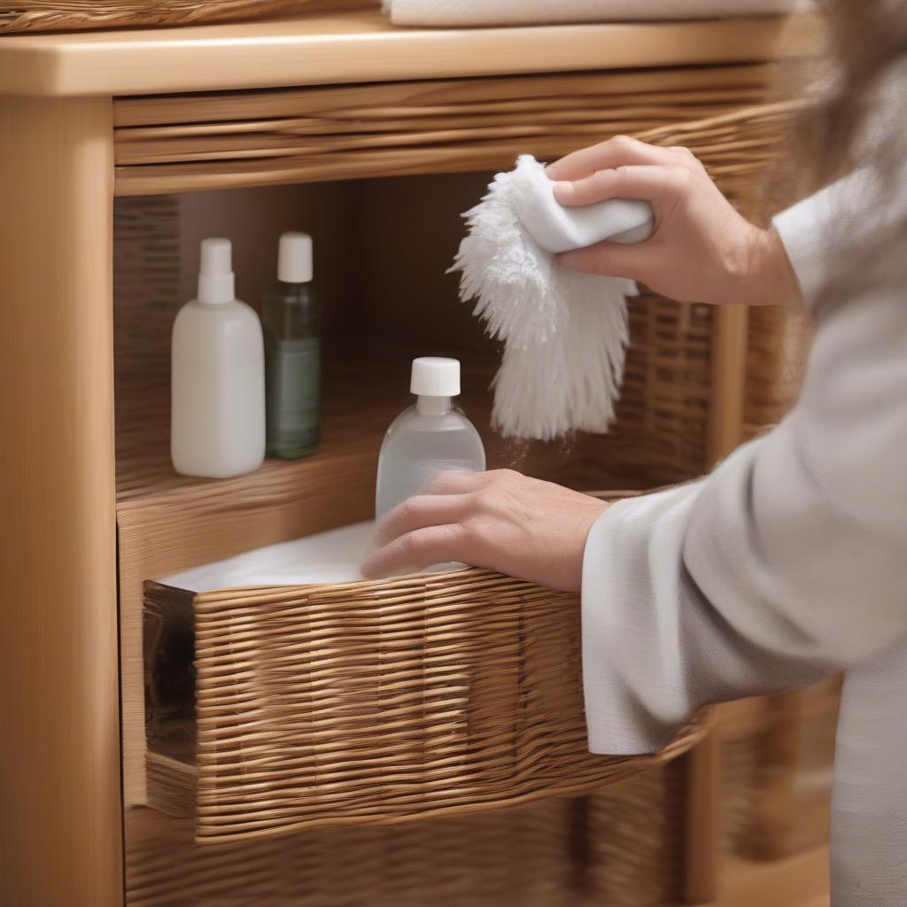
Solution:
<svg viewBox="0 0 907 907"><path fill-rule="evenodd" d="M717 463L743 440L746 399L744 306L715 310L707 458ZM687 903L717 897L720 837L720 743L713 731L687 755L687 824L683 896Z"/></svg>

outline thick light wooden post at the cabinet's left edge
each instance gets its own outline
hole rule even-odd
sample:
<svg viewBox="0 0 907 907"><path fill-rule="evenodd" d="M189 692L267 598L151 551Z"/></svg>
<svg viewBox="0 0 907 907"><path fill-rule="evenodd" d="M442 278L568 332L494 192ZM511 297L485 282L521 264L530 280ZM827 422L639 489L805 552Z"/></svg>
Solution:
<svg viewBox="0 0 907 907"><path fill-rule="evenodd" d="M0 98L0 900L122 904L112 102Z"/></svg>

